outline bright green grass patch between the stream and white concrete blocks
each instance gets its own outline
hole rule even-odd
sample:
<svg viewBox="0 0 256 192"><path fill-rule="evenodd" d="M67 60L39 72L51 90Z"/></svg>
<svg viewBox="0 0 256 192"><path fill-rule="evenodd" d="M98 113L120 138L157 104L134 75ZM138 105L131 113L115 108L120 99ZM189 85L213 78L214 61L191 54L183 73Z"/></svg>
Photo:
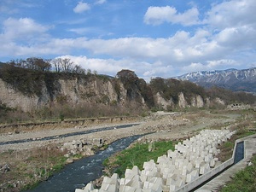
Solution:
<svg viewBox="0 0 256 192"><path fill-rule="evenodd" d="M148 151L148 148L152 148L152 150ZM113 163L110 163L110 160L107 159L103 164L112 166L112 172L116 172L119 177L123 177L126 168L138 166L142 170L144 162L148 160L156 161L159 156L167 154L169 149L174 150L172 142L136 143L132 148L127 148L118 154Z"/></svg>

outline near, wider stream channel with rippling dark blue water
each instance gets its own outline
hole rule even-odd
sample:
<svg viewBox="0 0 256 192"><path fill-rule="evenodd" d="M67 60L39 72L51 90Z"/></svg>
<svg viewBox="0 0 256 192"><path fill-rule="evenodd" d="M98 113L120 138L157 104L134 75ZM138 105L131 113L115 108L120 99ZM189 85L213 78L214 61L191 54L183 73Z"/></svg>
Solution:
<svg viewBox="0 0 256 192"><path fill-rule="evenodd" d="M38 187L26 192L73 192L83 188L86 183L102 176L102 162L112 154L127 148L132 142L143 135L125 137L111 143L107 149L97 154L77 160L67 165L61 172L39 183Z"/></svg>

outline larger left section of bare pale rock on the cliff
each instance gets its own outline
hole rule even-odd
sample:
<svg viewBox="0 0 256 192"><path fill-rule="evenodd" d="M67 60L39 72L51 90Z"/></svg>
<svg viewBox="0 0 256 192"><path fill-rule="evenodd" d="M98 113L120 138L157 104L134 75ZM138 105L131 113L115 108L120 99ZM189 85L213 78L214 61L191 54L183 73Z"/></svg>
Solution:
<svg viewBox="0 0 256 192"><path fill-rule="evenodd" d="M0 79L0 104L4 103L9 108L20 108L24 112L49 107L57 102L69 103L75 106L83 103L119 103L125 105L131 102L127 98L127 90L119 83L119 90L114 88L111 80L102 79L59 79L55 82L57 89L50 91L42 82L41 95L25 95L15 90L12 85ZM140 96L140 95L139 95ZM141 103L143 96L140 96Z"/></svg>

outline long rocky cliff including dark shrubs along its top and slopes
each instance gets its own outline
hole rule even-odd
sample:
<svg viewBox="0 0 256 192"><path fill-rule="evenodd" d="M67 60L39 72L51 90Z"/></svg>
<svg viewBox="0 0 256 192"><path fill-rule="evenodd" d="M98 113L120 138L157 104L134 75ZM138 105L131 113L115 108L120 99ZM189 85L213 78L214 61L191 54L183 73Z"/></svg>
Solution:
<svg viewBox="0 0 256 192"><path fill-rule="evenodd" d="M110 106L117 114L125 108L205 108L246 98L233 96L231 101L231 92L207 92L197 84L177 79L156 78L147 84L130 70L122 70L112 78L96 74L38 73L12 67L0 70L0 90L0 109L4 106L24 112L56 106L87 110L89 103L95 110ZM47 113L50 116L54 112Z"/></svg>

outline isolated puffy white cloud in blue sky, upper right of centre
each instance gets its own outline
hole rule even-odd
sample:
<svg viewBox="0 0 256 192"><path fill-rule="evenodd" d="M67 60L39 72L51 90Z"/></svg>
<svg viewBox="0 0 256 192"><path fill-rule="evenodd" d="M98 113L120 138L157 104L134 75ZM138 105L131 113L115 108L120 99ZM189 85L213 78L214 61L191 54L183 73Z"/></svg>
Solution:
<svg viewBox="0 0 256 192"><path fill-rule="evenodd" d="M144 15L144 22L151 25L160 25L163 22L192 26L199 22L199 11L196 8L184 13L177 13L174 7L149 7Z"/></svg>

